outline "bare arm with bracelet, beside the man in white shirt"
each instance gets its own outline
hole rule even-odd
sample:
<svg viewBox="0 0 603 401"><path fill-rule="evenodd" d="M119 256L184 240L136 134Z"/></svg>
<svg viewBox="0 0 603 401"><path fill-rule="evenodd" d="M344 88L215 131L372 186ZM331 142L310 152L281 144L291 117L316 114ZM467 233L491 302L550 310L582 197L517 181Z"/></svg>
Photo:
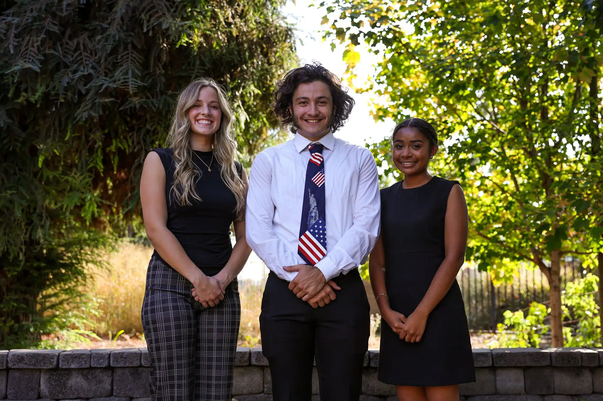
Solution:
<svg viewBox="0 0 603 401"><path fill-rule="evenodd" d="M381 234L377 237L377 243L368 258L368 274L371 279L371 287L373 287L374 296L377 298L377 306L381 312L381 316L385 319L391 329L400 334L402 323L406 321L406 317L402 313L398 313L391 309L390 300L387 298L387 289L385 289L385 251L383 247L383 238ZM379 294L383 294L379 296Z"/></svg>

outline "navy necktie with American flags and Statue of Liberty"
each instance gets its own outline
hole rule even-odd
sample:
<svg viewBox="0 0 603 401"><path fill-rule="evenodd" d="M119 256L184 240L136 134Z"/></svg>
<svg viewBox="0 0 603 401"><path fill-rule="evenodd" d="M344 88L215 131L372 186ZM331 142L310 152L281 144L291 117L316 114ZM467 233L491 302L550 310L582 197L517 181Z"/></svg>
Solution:
<svg viewBox="0 0 603 401"><path fill-rule="evenodd" d="M314 266L327 254L323 145L310 144L297 253Z"/></svg>

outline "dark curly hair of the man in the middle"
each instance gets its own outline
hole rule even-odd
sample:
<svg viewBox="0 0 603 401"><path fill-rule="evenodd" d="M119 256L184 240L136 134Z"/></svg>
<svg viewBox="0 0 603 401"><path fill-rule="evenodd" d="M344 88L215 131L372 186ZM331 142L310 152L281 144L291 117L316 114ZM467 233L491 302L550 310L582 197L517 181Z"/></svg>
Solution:
<svg viewBox="0 0 603 401"><path fill-rule="evenodd" d="M297 132L297 127L293 126L293 115L289 111L292 106L292 97L299 84L309 84L310 82L323 81L329 85L331 96L333 97L333 121L330 129L335 132L343 127L347 118L354 107L354 99L347 94L347 90L341 86L341 80L332 72L324 68L320 63L306 64L303 67L297 67L285 74L285 78L276 84L276 90L271 104L274 114L279 119L282 126L289 126L291 132Z"/></svg>

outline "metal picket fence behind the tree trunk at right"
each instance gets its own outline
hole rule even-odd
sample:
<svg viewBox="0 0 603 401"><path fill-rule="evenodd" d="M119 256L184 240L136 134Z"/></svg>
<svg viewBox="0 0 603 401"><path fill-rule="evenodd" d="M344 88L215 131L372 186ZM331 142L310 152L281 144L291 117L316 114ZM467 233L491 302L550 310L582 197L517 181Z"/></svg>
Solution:
<svg viewBox="0 0 603 401"><path fill-rule="evenodd" d="M580 260L566 257L561 265L562 289L567 281L582 278L586 271ZM494 287L490 275L474 268L462 269L456 276L463 292L469 329L494 330L504 321L505 310L529 307L532 301L549 299L549 284L540 269L520 268L513 281Z"/></svg>

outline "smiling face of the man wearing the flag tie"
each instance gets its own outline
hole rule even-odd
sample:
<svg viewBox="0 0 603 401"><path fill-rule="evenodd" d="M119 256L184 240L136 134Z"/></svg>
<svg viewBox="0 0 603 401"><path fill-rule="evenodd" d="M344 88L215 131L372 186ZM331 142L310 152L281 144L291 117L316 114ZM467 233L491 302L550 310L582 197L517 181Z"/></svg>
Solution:
<svg viewBox="0 0 603 401"><path fill-rule="evenodd" d="M293 92L293 124L298 132L316 141L329 133L333 120L333 97L329 85L323 81L299 84Z"/></svg>

